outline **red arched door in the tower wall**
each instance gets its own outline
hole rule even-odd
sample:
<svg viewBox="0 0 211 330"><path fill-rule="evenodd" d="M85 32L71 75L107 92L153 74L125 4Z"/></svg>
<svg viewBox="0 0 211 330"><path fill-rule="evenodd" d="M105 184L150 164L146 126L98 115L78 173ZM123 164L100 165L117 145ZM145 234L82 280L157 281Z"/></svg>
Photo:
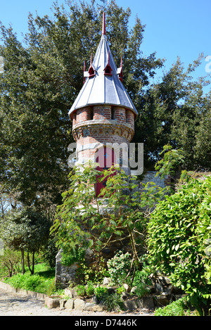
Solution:
<svg viewBox="0 0 211 330"><path fill-rule="evenodd" d="M98 171L108 170L112 165L115 165L115 152L112 148L108 148L108 146L103 146L98 149L96 153L96 163L99 163L99 166L96 168ZM115 173L114 173L115 174ZM113 174L113 175L114 175ZM106 179L103 182L98 182L98 178L103 177L102 175L97 176L96 181L96 196L98 196L101 192L101 189L106 186ZM100 196L103 197L103 196Z"/></svg>

